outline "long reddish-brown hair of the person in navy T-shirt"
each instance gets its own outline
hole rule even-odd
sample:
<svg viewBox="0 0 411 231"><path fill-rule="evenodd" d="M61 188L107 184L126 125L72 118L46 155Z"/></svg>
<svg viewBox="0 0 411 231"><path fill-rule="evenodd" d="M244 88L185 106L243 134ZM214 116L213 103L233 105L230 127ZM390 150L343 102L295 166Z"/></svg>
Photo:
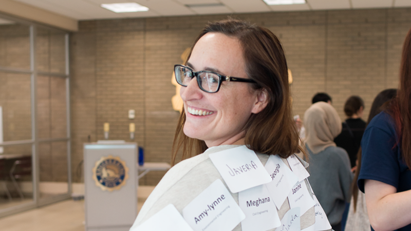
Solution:
<svg viewBox="0 0 411 231"><path fill-rule="evenodd" d="M394 118L402 157L411 169L411 29L405 37L400 66L400 86L397 97L387 112Z"/></svg>

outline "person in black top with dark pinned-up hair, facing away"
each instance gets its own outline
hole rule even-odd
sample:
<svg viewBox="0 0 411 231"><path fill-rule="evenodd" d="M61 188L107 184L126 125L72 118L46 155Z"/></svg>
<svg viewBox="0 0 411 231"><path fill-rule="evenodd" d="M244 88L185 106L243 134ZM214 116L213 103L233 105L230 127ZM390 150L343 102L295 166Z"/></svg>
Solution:
<svg viewBox="0 0 411 231"><path fill-rule="evenodd" d="M344 112L347 119L343 122L343 129L334 142L347 151L353 171L366 126L365 121L361 119L364 114L364 101L359 96L352 95L345 102Z"/></svg>

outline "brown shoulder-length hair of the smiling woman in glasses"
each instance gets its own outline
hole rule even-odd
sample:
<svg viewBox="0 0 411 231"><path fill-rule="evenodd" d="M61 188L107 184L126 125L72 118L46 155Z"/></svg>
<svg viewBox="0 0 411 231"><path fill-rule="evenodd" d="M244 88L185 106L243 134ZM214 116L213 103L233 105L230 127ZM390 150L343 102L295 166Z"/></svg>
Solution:
<svg viewBox="0 0 411 231"><path fill-rule="evenodd" d="M252 114L246 123L247 147L256 152L283 158L300 151L304 153L304 149L299 145L297 128L292 118L287 62L278 38L267 28L228 19L209 23L196 38L192 49L197 41L209 32L238 39L242 46L247 75L256 82L253 88L266 89L269 95L266 108ZM185 136L184 122L183 109L174 137L172 164L175 163L180 149L182 159L198 155L207 149L204 141Z"/></svg>

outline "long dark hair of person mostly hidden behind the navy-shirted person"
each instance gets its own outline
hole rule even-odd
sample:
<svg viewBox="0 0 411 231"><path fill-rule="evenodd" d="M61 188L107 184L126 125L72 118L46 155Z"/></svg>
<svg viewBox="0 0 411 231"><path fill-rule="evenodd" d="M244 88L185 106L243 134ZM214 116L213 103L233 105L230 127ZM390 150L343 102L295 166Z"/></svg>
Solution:
<svg viewBox="0 0 411 231"><path fill-rule="evenodd" d="M371 122L372 118L374 118L377 114L379 114L381 111L383 111L383 108L385 107L386 103L389 102L390 100L394 99L397 95L397 89L386 89L381 91L377 97L374 99L372 102L371 109L369 111L368 115L368 120L367 120L367 125L369 122ZM357 209L357 198L358 198L358 185L357 185L357 180L358 176L360 174L361 170L361 147L358 150L357 153L357 170L356 174L354 175L354 180L352 181L351 184L351 193L354 201L354 212Z"/></svg>

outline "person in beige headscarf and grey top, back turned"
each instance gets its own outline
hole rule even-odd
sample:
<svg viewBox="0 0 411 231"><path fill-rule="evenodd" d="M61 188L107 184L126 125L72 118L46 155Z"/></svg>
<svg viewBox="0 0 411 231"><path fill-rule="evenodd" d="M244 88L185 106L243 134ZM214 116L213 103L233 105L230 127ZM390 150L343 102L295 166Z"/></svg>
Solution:
<svg viewBox="0 0 411 231"><path fill-rule="evenodd" d="M353 178L347 152L333 142L341 132L341 119L330 104L317 102L304 113L304 124L310 163L308 181L332 229L340 231Z"/></svg>

